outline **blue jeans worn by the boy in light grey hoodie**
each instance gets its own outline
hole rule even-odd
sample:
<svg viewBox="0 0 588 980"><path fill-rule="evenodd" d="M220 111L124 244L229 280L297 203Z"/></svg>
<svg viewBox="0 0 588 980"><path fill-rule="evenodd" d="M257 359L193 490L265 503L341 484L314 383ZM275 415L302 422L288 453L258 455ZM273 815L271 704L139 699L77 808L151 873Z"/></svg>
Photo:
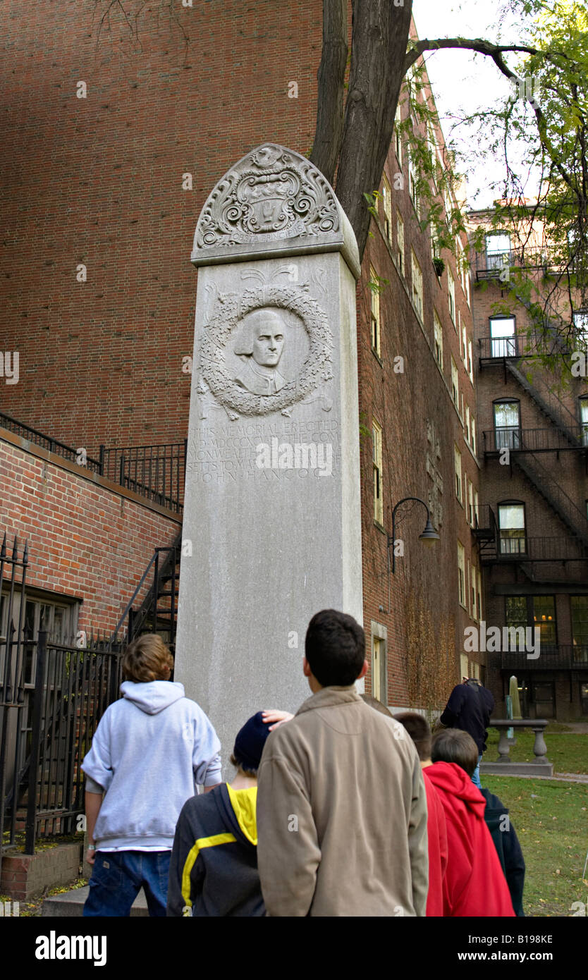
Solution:
<svg viewBox="0 0 588 980"><path fill-rule="evenodd" d="M143 886L149 914L163 918L171 857L171 851L97 851L83 915L128 916Z"/></svg>

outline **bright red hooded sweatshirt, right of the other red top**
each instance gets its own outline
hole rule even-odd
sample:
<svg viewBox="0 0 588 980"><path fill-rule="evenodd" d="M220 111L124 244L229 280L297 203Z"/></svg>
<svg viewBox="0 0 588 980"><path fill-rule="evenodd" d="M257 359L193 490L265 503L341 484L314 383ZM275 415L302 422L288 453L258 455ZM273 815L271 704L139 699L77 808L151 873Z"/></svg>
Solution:
<svg viewBox="0 0 588 980"><path fill-rule="evenodd" d="M424 772L437 790L447 824L443 914L514 916L507 879L484 820L482 794L455 762L434 762Z"/></svg>

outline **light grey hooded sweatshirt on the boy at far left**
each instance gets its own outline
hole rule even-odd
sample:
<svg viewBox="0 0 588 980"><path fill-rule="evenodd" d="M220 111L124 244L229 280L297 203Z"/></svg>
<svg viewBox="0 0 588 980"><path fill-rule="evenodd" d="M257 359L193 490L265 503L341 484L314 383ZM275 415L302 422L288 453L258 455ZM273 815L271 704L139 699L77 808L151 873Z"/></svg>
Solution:
<svg viewBox="0 0 588 980"><path fill-rule="evenodd" d="M81 763L86 790L104 792L96 850L172 850L175 823L194 782L221 782L221 743L176 681L124 681Z"/></svg>

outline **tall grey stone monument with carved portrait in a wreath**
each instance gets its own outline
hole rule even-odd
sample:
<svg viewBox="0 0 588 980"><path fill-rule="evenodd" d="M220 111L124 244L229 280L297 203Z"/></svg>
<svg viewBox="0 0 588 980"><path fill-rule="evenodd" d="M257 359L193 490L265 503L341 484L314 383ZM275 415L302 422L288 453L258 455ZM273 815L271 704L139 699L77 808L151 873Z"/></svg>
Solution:
<svg viewBox="0 0 588 980"><path fill-rule="evenodd" d="M328 182L270 143L212 191L192 262L175 677L226 763L251 714L310 695L311 616L332 607L362 622L360 264Z"/></svg>

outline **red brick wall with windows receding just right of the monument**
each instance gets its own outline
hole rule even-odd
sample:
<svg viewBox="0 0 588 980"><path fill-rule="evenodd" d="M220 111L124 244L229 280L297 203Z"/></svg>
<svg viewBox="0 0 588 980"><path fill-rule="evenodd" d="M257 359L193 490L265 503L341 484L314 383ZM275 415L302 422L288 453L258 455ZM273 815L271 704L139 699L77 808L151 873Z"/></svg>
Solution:
<svg viewBox="0 0 588 980"><path fill-rule="evenodd" d="M403 119L407 115L405 104ZM442 144L442 134L437 133ZM404 187L394 189L395 174L402 172ZM360 365L361 421L368 428L362 444L362 526L364 554L364 624L369 644L370 620L387 629L388 704L407 704L406 678L403 669L403 652L409 642L405 622L405 598L411 591L422 596L434 630L444 617L455 620L455 678L459 679L459 656L463 652L464 629L473 624L470 595L466 582L467 608L458 600L458 539L466 554L466 576L471 565L478 559L471 530L466 519L466 508L456 496L454 445L462 453L463 480L468 477L478 488L478 463L466 444L463 419L451 398L451 358L459 372L460 410L461 395L475 418L475 393L468 377L461 354L460 337L449 313L447 271L438 277L432 265L429 230L421 231L415 208L408 190L408 164L406 144L402 168L394 147L390 148L385 167L392 188L392 242L388 243L384 232L384 211L378 206L379 222L371 222L372 236L363 264L363 277L358 287L358 349ZM398 181L397 181L398 183ZM381 190L381 188L380 188ZM392 255L396 257L396 210L404 220L405 274L397 270ZM426 213L422 206L422 216ZM463 236L464 244L466 238ZM423 278L422 325L412 302L412 263L414 249ZM468 340L472 339L471 312L462 289L456 262L448 252L443 253L446 268L455 279L456 321L466 326ZM369 266L387 279L388 284L380 293L381 365L371 350L370 297L368 288ZM433 310L436 310L443 327L443 371L434 357ZM394 371L394 358L404 358L404 373ZM396 561L396 573L387 573L387 534L374 523L372 481L372 418L383 429L383 492L384 521L387 533L392 532L392 509L404 497L419 497L427 502L431 480L426 472L427 452L443 477L443 523L439 528L440 541L430 550L417 539L425 522L425 512L417 509L407 515L398 512L402 522L396 537L405 544L404 558ZM426 420L430 419L439 440L441 458L436 459L427 441ZM466 503L466 496L465 496ZM469 562L469 565L467 564ZM390 585L390 611L388 612L388 583ZM383 607L383 612L380 610ZM434 650L431 656L435 656ZM473 660L478 660L472 655ZM481 655L481 662L484 656ZM367 689L371 678L368 674ZM422 707L431 707L422 703Z"/></svg>

